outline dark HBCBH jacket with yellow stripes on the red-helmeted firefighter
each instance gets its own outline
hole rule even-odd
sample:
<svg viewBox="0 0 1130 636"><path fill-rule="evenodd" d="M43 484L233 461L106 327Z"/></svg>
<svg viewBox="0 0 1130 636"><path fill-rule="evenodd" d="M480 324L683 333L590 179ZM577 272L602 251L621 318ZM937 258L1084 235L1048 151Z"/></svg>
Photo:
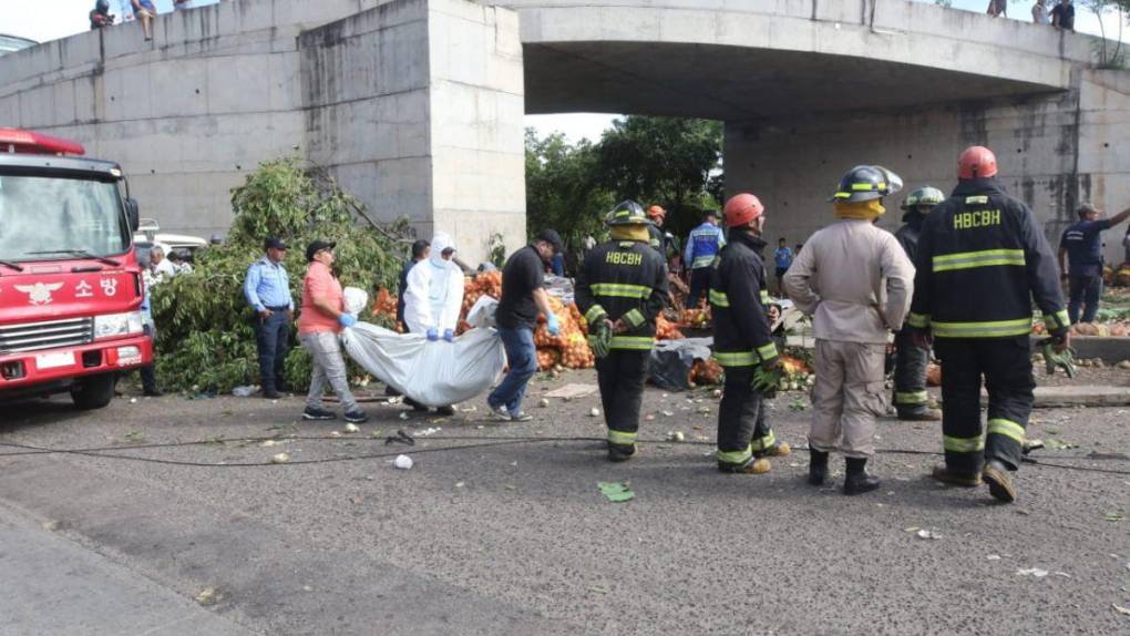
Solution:
<svg viewBox="0 0 1130 636"><path fill-rule="evenodd" d="M1014 338L1032 304L1050 332L1067 329L1055 256L1032 210L996 178L963 180L922 225L906 322L937 338Z"/></svg>

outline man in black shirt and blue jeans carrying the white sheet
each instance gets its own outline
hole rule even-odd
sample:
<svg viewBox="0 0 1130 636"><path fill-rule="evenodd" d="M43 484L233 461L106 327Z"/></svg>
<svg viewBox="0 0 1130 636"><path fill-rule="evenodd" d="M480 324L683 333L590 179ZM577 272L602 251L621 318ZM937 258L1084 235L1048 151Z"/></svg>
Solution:
<svg viewBox="0 0 1130 636"><path fill-rule="evenodd" d="M550 336L560 331L557 316L549 308L549 295L545 289L546 263L554 254L565 250L562 237L553 229L538 235L532 243L511 254L502 270L502 299L495 312L498 336L506 347L510 372L502 383L487 397L487 406L499 419L528 421L531 418L522 411L525 385L538 372L538 350L533 345L533 329L538 324L538 311L546 314L546 329Z"/></svg>

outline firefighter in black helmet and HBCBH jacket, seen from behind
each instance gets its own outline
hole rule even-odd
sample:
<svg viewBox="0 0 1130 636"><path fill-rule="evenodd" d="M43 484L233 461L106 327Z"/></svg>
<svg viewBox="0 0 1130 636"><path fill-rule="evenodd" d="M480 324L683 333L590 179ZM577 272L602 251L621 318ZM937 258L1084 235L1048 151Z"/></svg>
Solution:
<svg viewBox="0 0 1130 636"><path fill-rule="evenodd" d="M597 357L608 459L621 462L636 454L647 356L667 298L667 267L647 245L647 217L638 203L620 203L606 223L611 241L585 256L575 298Z"/></svg>

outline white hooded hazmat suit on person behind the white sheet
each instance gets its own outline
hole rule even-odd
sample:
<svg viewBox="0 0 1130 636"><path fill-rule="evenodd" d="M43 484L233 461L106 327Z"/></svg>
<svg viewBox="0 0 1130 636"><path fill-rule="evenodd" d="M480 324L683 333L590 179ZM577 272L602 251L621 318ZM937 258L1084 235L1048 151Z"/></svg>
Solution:
<svg viewBox="0 0 1130 636"><path fill-rule="evenodd" d="M432 254L408 271L405 291L405 322L412 333L425 334L435 329L454 331L463 304L463 270L453 260L445 261L443 251L454 249L451 237L438 233L432 238Z"/></svg>

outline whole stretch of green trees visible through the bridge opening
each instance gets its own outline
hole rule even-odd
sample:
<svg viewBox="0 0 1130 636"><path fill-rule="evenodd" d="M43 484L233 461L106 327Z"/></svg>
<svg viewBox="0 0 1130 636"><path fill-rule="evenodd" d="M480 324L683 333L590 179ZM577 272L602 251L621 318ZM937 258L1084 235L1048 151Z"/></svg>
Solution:
<svg viewBox="0 0 1130 636"><path fill-rule="evenodd" d="M722 124L706 120L628 115L597 143L568 143L560 133L525 133L528 227L555 227L575 245L602 233L605 214L634 199L668 210L667 225L685 234L698 214L716 207L722 180Z"/></svg>

